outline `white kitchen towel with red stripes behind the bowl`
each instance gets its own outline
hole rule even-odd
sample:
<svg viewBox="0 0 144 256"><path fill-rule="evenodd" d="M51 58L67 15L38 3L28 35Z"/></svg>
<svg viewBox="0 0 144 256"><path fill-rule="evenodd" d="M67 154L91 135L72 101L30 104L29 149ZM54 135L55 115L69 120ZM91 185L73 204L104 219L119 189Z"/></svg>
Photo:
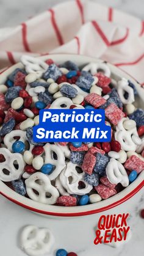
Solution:
<svg viewBox="0 0 144 256"><path fill-rule="evenodd" d="M22 54L72 53L101 58L144 85L144 21L88 1L56 5L16 27L0 29L0 68Z"/></svg>

